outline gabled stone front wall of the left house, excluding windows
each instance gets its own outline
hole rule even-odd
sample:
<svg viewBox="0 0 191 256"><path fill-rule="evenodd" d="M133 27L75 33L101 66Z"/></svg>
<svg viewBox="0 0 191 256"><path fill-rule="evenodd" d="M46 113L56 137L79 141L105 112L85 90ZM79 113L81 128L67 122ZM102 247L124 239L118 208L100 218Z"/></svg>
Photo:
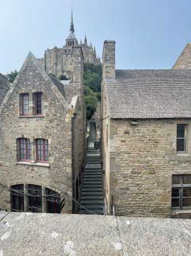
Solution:
<svg viewBox="0 0 191 256"><path fill-rule="evenodd" d="M45 79L29 60L1 113L0 183L8 187L36 184L71 195L71 119L50 86L49 79ZM32 93L35 92L43 93L43 116L21 117L19 94L29 93L29 108L32 109ZM37 138L48 139L49 164L19 163L18 138L22 137L32 143ZM10 191L0 189L0 208L10 210ZM70 199L65 200L63 212L71 213Z"/></svg>

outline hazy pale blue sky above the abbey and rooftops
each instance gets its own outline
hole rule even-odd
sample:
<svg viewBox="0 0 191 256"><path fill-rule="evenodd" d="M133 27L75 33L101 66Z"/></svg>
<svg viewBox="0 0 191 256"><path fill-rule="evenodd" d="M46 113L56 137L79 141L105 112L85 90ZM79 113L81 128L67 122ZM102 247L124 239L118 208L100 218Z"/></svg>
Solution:
<svg viewBox="0 0 191 256"><path fill-rule="evenodd" d="M117 69L171 69L191 42L191 0L0 0L0 73L22 67L28 52L62 47L87 36L102 56L116 41Z"/></svg>

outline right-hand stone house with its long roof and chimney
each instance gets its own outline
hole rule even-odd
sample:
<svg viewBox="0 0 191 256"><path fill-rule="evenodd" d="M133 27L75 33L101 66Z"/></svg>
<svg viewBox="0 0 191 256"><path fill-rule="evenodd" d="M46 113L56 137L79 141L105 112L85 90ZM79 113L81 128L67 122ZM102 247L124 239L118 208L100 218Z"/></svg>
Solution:
<svg viewBox="0 0 191 256"><path fill-rule="evenodd" d="M191 70L116 70L106 40L101 93L109 214L190 216Z"/></svg>

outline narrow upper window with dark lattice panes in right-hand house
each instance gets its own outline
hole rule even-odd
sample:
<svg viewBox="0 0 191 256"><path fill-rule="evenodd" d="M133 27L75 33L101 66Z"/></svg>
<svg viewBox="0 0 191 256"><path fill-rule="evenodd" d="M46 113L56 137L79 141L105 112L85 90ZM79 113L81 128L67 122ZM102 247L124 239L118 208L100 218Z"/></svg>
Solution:
<svg viewBox="0 0 191 256"><path fill-rule="evenodd" d="M186 125L177 125L176 151L186 151Z"/></svg>

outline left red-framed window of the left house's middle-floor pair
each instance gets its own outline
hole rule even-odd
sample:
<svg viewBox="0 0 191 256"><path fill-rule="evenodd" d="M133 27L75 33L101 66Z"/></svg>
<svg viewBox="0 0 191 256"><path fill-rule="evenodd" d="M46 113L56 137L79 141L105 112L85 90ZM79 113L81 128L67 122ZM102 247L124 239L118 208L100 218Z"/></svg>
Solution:
<svg viewBox="0 0 191 256"><path fill-rule="evenodd" d="M32 159L32 144L29 139L19 139L19 160L29 161Z"/></svg>

